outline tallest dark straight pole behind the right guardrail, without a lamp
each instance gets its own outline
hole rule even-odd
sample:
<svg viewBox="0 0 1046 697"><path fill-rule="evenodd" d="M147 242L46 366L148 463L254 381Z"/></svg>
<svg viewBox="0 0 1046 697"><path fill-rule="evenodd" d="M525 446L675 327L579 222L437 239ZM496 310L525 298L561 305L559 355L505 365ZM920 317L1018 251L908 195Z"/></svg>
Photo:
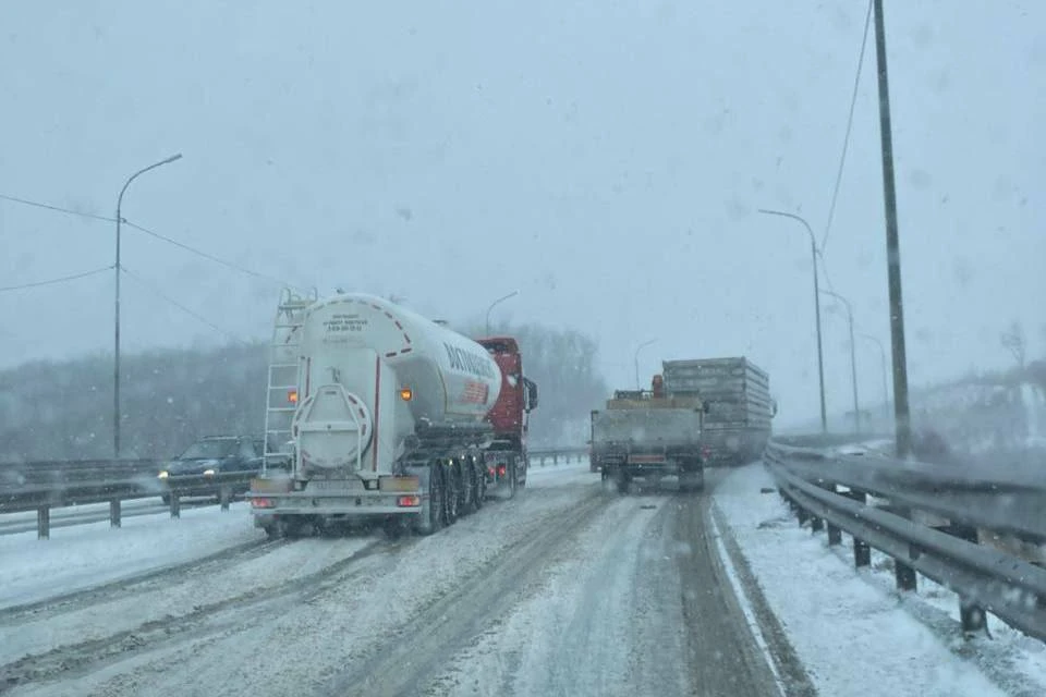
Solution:
<svg viewBox="0 0 1046 697"><path fill-rule="evenodd" d="M893 135L890 127L890 88L886 69L886 27L883 0L873 0L875 54L879 77L879 135L883 139L883 200L886 207L886 264L890 290L890 347L893 358L893 420L897 456L912 448L912 421L908 405L908 358L904 348L904 306L901 297L901 248L897 229L897 192L893 184Z"/></svg>

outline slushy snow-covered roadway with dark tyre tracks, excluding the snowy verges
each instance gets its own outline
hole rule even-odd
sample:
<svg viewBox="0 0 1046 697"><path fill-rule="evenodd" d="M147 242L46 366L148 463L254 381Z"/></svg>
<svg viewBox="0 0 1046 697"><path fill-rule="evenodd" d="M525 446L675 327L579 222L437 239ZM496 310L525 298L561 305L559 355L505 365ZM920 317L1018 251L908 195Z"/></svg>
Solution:
<svg viewBox="0 0 1046 697"><path fill-rule="evenodd" d="M559 467L430 538L241 540L0 610L0 692L778 694L709 501Z"/></svg>

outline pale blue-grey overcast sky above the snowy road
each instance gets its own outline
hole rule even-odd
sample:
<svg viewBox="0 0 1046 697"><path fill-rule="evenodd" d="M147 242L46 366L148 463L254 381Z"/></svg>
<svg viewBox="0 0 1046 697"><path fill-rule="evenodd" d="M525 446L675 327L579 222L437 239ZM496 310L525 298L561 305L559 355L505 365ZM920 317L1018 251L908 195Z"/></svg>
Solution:
<svg viewBox="0 0 1046 697"><path fill-rule="evenodd" d="M887 5L911 380L1046 353L1046 4ZM747 355L816 413L810 247L827 220L865 0L9 1L0 193L124 217L321 293L596 337L617 386ZM869 38L825 249L889 339ZM112 264L113 225L0 201L0 285ZM279 286L126 230L124 346L264 337ZM0 294L0 365L108 352L111 273ZM830 306L826 301L826 310ZM829 406L849 403L841 315ZM862 391L879 358L859 345Z"/></svg>

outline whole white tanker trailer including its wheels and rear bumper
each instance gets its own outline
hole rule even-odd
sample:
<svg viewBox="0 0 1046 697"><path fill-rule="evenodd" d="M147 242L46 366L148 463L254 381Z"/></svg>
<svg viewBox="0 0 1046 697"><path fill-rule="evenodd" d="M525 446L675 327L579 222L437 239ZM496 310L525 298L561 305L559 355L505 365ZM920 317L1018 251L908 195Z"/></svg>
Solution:
<svg viewBox="0 0 1046 697"><path fill-rule="evenodd" d="M277 536L373 518L429 534L482 505L484 418L502 383L482 345L356 293L304 307L282 343L297 344L297 377L273 388L270 369L268 406L293 415L291 466L252 482L255 525Z"/></svg>

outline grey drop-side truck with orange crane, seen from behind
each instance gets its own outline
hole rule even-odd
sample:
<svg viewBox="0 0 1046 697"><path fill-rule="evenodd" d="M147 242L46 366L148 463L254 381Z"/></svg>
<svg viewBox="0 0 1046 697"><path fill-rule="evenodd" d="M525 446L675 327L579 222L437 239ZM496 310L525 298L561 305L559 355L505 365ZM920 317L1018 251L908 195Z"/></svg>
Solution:
<svg viewBox="0 0 1046 697"><path fill-rule="evenodd" d="M704 487L702 419L694 395L666 393L661 376L649 391L618 390L605 409L592 412L591 466L628 493L633 479L652 486L676 477L683 491Z"/></svg>

